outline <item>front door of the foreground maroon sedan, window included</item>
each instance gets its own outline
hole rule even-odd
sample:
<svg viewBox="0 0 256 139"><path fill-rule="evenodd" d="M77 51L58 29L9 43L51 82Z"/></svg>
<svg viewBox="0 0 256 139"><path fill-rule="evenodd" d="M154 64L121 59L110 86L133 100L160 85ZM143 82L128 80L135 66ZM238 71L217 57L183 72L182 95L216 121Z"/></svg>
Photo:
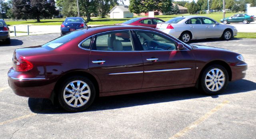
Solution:
<svg viewBox="0 0 256 139"><path fill-rule="evenodd" d="M152 31L136 31L142 44L142 88L192 84L195 61L189 49L176 50L176 41ZM139 44L140 45L140 44Z"/></svg>

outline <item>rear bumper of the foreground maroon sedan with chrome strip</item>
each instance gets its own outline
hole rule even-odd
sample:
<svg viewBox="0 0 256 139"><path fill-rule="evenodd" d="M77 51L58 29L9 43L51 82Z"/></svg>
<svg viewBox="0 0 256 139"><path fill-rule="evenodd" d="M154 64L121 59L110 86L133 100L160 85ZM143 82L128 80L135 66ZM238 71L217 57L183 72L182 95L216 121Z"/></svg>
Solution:
<svg viewBox="0 0 256 139"><path fill-rule="evenodd" d="M8 71L8 84L18 96L50 98L56 82L45 76L29 77L11 68Z"/></svg>

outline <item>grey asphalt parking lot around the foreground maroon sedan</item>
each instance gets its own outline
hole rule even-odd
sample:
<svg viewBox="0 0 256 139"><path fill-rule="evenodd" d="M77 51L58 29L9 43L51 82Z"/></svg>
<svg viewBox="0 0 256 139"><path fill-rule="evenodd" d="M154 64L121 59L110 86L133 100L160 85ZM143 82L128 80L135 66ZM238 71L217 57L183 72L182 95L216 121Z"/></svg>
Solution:
<svg viewBox="0 0 256 139"><path fill-rule="evenodd" d="M0 44L1 139L255 138L256 39L192 41L240 53L248 63L246 78L230 82L221 95L205 96L195 88L184 88L110 96L99 98L84 112L68 113L46 99L16 96L7 81L14 49L58 36L20 36L11 39L12 46Z"/></svg>

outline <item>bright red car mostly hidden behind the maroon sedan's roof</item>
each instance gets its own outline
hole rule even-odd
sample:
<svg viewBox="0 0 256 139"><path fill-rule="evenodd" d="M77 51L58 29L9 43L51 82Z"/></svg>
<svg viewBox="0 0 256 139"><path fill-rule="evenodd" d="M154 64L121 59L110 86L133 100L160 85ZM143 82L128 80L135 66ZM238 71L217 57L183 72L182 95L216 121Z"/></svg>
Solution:
<svg viewBox="0 0 256 139"><path fill-rule="evenodd" d="M133 18L124 23L118 23L116 25L139 25L144 27L156 28L157 23L165 22L159 18Z"/></svg>

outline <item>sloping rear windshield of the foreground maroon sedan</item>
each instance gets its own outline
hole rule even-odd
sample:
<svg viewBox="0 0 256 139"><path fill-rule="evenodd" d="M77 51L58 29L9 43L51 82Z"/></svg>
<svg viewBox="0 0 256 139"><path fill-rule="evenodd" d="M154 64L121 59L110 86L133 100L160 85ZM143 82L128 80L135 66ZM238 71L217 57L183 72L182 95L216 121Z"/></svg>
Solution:
<svg viewBox="0 0 256 139"><path fill-rule="evenodd" d="M60 45L67 43L68 41L70 41L82 34L84 34L84 31L81 31L81 30L74 31L74 32L68 33L66 35L60 36L60 37L42 45L42 47L52 50L52 49L55 49L55 48L59 47Z"/></svg>

